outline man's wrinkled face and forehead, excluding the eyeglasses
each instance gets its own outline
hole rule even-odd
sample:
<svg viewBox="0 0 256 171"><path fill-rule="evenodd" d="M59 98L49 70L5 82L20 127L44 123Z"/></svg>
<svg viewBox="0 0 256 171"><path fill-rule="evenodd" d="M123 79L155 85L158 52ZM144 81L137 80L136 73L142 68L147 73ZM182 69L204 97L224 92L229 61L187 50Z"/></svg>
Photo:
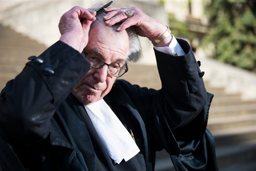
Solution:
<svg viewBox="0 0 256 171"><path fill-rule="evenodd" d="M99 28L99 29L98 29ZM94 54L106 63L126 60L129 38L126 32L121 35L109 33L98 24L90 30L86 52ZM91 104L108 94L117 77L108 74L108 66L91 70L77 83L72 93L83 104Z"/></svg>

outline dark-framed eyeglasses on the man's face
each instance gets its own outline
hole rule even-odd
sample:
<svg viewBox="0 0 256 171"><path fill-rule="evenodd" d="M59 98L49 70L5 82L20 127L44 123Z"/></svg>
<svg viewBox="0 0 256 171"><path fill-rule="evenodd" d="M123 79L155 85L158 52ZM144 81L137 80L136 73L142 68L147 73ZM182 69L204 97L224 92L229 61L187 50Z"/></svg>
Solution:
<svg viewBox="0 0 256 171"><path fill-rule="evenodd" d="M83 53L84 55L86 55L86 58L90 61L91 67L99 69L100 67L106 65L108 66L108 74L112 76L121 77L128 71L127 63L123 60L117 60L108 64L94 54L88 53L86 51L83 51Z"/></svg>

